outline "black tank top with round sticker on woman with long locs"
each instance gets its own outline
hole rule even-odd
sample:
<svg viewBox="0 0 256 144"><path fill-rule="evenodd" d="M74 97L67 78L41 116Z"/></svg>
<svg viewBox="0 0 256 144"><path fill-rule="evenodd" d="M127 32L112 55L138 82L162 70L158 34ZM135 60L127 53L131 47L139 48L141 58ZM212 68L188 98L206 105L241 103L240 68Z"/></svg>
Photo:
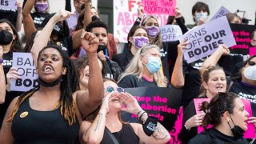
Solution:
<svg viewBox="0 0 256 144"><path fill-rule="evenodd" d="M12 123L15 143L78 143L78 120L69 126L56 110L38 111L30 107L29 98L19 107Z"/></svg>

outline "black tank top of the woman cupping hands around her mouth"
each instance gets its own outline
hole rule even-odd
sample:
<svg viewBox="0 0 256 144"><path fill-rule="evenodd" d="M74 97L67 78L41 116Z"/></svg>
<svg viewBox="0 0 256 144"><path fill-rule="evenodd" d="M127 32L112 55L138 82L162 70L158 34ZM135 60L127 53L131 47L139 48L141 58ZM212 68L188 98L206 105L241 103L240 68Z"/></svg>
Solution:
<svg viewBox="0 0 256 144"><path fill-rule="evenodd" d="M105 129L107 129L105 127ZM138 135L134 133L134 129L130 124L122 124L122 129L114 134L114 137L120 144L136 144L139 143ZM104 135L101 144L114 143L110 136L104 130Z"/></svg>

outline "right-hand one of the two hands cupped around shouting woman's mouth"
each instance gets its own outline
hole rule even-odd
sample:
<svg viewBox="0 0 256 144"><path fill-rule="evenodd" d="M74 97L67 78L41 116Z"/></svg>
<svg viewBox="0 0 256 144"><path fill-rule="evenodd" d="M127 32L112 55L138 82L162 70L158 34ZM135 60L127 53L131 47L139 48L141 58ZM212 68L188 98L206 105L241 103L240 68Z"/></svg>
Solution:
<svg viewBox="0 0 256 144"><path fill-rule="evenodd" d="M138 105L136 98L134 98L129 93L121 93L120 98L122 98L126 107L122 107L123 111L126 111L130 114L137 114L138 111L142 110L141 106Z"/></svg>

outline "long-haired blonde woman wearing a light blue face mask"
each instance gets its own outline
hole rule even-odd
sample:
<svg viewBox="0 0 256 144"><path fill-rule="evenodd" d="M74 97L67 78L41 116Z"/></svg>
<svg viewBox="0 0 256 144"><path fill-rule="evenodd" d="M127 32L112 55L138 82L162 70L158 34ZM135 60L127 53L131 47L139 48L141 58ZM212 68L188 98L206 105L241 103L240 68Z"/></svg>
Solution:
<svg viewBox="0 0 256 144"><path fill-rule="evenodd" d="M130 61L126 71L120 76L118 86L129 87L166 87L166 78L162 74L161 58L158 46L142 47Z"/></svg>

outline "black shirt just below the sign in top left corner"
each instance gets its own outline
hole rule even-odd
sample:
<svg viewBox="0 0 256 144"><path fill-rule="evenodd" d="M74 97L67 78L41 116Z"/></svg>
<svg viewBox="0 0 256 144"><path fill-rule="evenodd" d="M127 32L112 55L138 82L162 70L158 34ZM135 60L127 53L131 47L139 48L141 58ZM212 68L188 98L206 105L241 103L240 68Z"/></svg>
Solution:
<svg viewBox="0 0 256 144"><path fill-rule="evenodd" d="M16 27L17 19L18 19L18 11L17 10L6 10L0 9L0 19L7 19Z"/></svg>

